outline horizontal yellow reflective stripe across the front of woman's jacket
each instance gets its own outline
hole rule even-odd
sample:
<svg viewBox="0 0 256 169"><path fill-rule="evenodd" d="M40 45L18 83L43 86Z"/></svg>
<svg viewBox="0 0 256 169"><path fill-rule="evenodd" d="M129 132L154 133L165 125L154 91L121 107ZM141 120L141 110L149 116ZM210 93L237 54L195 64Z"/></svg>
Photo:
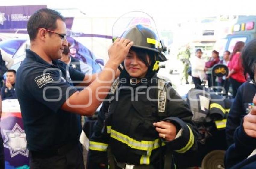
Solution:
<svg viewBox="0 0 256 169"><path fill-rule="evenodd" d="M129 136L117 132L113 129L111 129L110 137L124 144L127 144L131 148L138 150L150 151L159 147L159 138L155 139L154 141L136 141L135 139L130 138Z"/></svg>

